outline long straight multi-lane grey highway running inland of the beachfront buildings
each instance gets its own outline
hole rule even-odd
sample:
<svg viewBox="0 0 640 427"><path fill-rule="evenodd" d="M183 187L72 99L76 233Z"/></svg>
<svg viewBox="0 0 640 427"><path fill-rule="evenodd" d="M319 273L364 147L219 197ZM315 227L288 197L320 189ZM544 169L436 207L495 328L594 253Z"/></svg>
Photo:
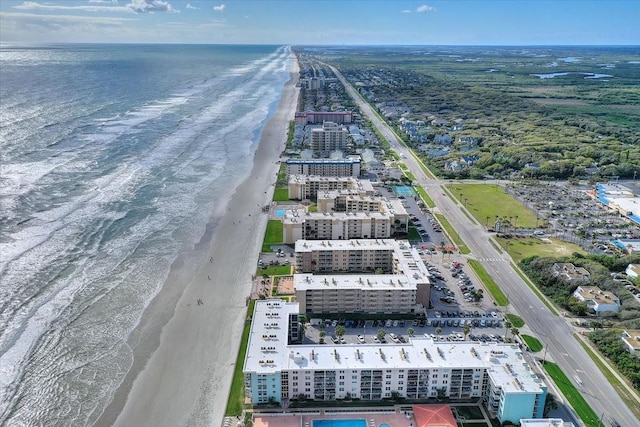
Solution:
<svg viewBox="0 0 640 427"><path fill-rule="evenodd" d="M436 211L444 214L451 226L460 235L472 252L472 257L483 265L502 291L509 298L509 311L520 315L526 326L546 346L546 357L557 363L573 385L581 392L591 408L596 412L602 425L609 427L611 420L621 427L635 427L640 420L634 416L625 402L617 394L598 366L584 351L573 328L566 319L555 316L533 293L510 265L510 257L499 252L492 244L489 234L481 224L475 224L463 213L463 207L446 195L443 182L427 176L408 148L400 144L396 134L382 122L371 106L346 81L344 76L329 66L342 82L349 95L356 101L363 114L366 114L378 131L389 141L391 148L403 157L404 163L432 198ZM550 387L550 391L553 389ZM555 393L554 393L555 394ZM558 400L565 402L563 396ZM593 420L597 425L598 419Z"/></svg>

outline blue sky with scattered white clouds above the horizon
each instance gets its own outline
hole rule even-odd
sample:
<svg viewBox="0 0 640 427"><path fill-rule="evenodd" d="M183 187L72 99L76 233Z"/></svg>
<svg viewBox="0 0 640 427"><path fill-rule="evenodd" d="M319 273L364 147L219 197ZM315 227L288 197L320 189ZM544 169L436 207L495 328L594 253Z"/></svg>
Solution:
<svg viewBox="0 0 640 427"><path fill-rule="evenodd" d="M0 42L640 45L640 0L0 2Z"/></svg>

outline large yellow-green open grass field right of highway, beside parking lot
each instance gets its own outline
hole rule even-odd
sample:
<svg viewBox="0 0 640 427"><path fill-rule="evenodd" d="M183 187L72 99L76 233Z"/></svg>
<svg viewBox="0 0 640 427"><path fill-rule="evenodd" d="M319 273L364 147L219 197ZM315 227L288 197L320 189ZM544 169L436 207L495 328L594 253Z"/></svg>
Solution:
<svg viewBox="0 0 640 427"><path fill-rule="evenodd" d="M505 193L499 185L452 183L447 187L460 203L465 203L467 210L480 224L491 226L498 216L511 217L512 225L517 227L536 226L536 215L516 198ZM516 216L517 219L515 219Z"/></svg>

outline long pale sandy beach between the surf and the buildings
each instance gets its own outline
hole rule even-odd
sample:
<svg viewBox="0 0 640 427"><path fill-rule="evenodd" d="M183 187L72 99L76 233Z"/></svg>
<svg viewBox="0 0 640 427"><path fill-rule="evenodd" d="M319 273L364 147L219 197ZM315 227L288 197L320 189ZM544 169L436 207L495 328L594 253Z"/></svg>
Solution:
<svg viewBox="0 0 640 427"><path fill-rule="evenodd" d="M206 241L209 256L196 277L181 277L183 259L145 311L129 344L133 367L99 426L219 426L224 416L236 354L268 215L299 89L298 65L267 122L251 175L238 187L227 214ZM178 280L186 287L172 287ZM202 304L198 303L202 300Z"/></svg>

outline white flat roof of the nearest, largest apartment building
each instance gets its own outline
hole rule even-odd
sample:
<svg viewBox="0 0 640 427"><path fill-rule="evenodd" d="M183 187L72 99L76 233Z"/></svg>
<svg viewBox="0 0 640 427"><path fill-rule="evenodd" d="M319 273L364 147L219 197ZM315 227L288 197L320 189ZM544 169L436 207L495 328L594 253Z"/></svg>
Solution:
<svg viewBox="0 0 640 427"><path fill-rule="evenodd" d="M486 369L506 392L538 392L544 386L510 344L414 337L406 344L288 345L288 315L297 312L298 303L256 301L244 371L477 368Z"/></svg>

